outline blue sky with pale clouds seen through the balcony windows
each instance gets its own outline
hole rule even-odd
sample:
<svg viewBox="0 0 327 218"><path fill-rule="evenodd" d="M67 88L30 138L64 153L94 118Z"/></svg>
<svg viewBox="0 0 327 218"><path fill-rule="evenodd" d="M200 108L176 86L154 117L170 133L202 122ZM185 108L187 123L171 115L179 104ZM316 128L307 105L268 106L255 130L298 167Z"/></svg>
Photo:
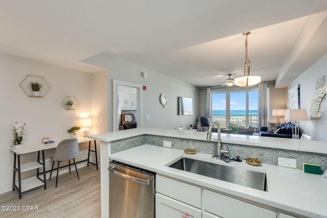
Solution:
<svg viewBox="0 0 327 218"><path fill-rule="evenodd" d="M213 110L226 110L225 93L212 96ZM230 110L245 110L245 92L230 92ZM249 91L249 110L258 110L258 91Z"/></svg>

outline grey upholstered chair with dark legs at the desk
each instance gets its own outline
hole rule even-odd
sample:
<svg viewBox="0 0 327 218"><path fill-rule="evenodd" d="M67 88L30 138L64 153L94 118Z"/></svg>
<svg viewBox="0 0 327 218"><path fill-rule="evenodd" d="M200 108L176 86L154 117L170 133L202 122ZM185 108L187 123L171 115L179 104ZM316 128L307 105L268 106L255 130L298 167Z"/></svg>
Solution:
<svg viewBox="0 0 327 218"><path fill-rule="evenodd" d="M52 170L55 161L58 161L58 166L57 166L57 178L56 178L56 188L57 188L57 183L58 183L58 174L59 174L59 163L61 161L67 161L69 164L69 174L71 174L71 160L74 160L75 164L75 169L77 173L78 179L80 177L78 176L78 171L76 167L76 162L75 162L75 157L78 155L79 149L78 149L78 141L77 138L71 138L71 139L65 139L59 142L55 155L53 157L50 157L50 159L53 160L52 162L52 167L51 167L51 173L50 173L50 178L49 181L51 180L51 175L52 175Z"/></svg>

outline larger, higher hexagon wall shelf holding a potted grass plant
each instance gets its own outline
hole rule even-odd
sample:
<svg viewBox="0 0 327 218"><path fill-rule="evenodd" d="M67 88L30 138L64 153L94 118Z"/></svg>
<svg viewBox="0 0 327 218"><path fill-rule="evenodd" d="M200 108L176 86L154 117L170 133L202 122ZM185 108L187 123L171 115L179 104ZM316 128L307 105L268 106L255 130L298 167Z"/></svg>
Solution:
<svg viewBox="0 0 327 218"><path fill-rule="evenodd" d="M39 95L34 96L32 92L32 88L30 83L40 83L42 87L40 89ZM43 76L36 76L36 75L27 75L24 80L22 80L19 84L20 88L25 92L25 94L29 97L44 97L46 93L51 89L51 86L48 80L45 79Z"/></svg>

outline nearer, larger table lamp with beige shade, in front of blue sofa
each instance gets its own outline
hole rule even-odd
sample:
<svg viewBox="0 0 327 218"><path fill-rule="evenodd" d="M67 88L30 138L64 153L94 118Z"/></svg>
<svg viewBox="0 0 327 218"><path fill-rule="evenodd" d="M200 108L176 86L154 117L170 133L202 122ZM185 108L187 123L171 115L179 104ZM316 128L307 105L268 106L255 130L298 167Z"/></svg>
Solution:
<svg viewBox="0 0 327 218"><path fill-rule="evenodd" d="M286 109L285 119L292 121L292 138L299 139L299 120L309 120L307 109Z"/></svg>

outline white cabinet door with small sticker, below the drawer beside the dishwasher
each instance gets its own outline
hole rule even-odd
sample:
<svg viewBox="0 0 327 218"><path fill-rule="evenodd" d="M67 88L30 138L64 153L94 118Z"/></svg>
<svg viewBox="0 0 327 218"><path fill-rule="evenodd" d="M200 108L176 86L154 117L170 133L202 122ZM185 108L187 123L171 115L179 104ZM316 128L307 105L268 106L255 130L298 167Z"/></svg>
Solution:
<svg viewBox="0 0 327 218"><path fill-rule="evenodd" d="M156 218L201 218L201 210L174 199L155 195Z"/></svg>

